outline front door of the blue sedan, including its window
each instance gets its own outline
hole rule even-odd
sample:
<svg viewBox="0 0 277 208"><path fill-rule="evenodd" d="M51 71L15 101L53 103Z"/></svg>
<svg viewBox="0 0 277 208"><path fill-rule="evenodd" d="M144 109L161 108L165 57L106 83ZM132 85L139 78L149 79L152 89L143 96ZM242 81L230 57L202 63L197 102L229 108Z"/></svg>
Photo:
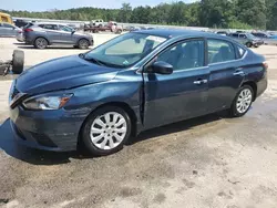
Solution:
<svg viewBox="0 0 277 208"><path fill-rule="evenodd" d="M155 59L173 65L172 74L144 73L145 128L207 112L209 69L205 66L204 45L203 39L177 43Z"/></svg>

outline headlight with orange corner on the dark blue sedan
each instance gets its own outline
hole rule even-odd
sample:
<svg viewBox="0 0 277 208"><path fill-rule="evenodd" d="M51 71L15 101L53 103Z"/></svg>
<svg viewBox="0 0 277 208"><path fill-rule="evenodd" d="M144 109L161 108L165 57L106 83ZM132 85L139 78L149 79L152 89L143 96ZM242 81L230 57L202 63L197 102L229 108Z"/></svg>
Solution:
<svg viewBox="0 0 277 208"><path fill-rule="evenodd" d="M23 102L23 106L28 110L59 110L69 102L71 96L72 94L31 97Z"/></svg>

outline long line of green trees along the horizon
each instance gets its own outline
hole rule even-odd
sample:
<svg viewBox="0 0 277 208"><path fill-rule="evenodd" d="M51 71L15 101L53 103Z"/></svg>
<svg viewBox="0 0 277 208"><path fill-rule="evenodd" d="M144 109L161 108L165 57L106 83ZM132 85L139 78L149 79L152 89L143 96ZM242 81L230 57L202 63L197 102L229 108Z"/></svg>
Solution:
<svg viewBox="0 0 277 208"><path fill-rule="evenodd" d="M76 8L44 12L3 11L13 17L91 21L103 19L132 23L177 24L209 28L277 30L277 0L175 1L156 7L123 3L121 9Z"/></svg>

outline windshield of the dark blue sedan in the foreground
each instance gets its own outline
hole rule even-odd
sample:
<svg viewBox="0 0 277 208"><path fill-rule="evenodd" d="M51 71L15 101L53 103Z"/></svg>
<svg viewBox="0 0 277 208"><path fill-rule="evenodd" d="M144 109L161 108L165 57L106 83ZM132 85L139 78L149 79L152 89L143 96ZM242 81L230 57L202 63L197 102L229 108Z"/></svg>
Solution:
<svg viewBox="0 0 277 208"><path fill-rule="evenodd" d="M164 41L166 39L162 37L131 32L100 45L83 58L107 66L127 67L150 54Z"/></svg>

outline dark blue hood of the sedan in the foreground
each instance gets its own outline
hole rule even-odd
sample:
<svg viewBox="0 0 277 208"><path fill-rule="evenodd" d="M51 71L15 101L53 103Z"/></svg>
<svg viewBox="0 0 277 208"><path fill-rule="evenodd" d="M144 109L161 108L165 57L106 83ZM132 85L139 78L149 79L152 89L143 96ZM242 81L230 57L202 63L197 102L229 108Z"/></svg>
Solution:
<svg viewBox="0 0 277 208"><path fill-rule="evenodd" d="M119 69L100 66L72 55L30 67L17 79L16 87L28 94L68 90L112 80L117 71Z"/></svg>

